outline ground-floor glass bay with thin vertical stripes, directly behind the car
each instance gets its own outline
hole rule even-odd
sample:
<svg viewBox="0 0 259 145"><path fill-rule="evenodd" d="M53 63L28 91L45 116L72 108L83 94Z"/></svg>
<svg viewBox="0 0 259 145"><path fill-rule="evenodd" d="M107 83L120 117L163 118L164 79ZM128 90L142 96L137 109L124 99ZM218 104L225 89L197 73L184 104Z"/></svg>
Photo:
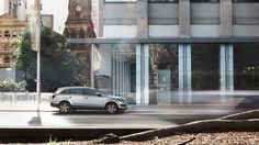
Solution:
<svg viewBox="0 0 259 145"><path fill-rule="evenodd" d="M93 54L94 87L136 103L136 46L99 45Z"/></svg>

